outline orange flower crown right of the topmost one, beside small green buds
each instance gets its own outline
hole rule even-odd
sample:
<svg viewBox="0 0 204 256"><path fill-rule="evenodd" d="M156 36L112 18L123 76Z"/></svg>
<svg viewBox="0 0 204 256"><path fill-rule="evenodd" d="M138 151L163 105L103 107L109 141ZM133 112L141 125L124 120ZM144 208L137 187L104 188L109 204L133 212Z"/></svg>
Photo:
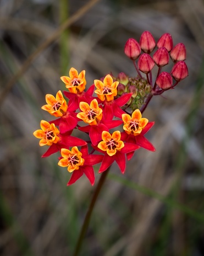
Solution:
<svg viewBox="0 0 204 256"><path fill-rule="evenodd" d="M119 84L118 81L113 82L113 78L110 74L104 78L103 82L100 80L95 80L94 84L96 86L95 93L98 98L102 100L107 100L107 102L111 102L114 99L114 96L117 95L117 86Z"/></svg>

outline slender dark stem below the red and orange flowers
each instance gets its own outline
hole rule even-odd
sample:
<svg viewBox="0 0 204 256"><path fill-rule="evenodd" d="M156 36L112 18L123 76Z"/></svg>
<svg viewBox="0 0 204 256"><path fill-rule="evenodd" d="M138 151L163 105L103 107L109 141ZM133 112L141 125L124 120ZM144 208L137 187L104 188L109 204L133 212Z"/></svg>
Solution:
<svg viewBox="0 0 204 256"><path fill-rule="evenodd" d="M91 214L93 212L93 208L94 208L94 206L96 204L96 200L97 200L98 195L99 195L99 193L101 191L101 188L102 188L102 186L103 186L103 184L104 184L104 182L106 180L106 177L108 175L108 172L109 172L110 168L111 167L108 167L108 169L101 174L101 178L100 178L100 180L99 180L99 182L97 184L96 190L95 190L95 192L93 194L92 200L91 200L90 205L89 205L89 209L88 209L88 211L86 213L86 216L85 216L85 219L84 219L84 223L83 223L83 225L81 227L80 235L79 235L78 241L76 243L76 247L75 247L75 252L73 254L74 256L79 255L79 252L80 252L80 249L81 249L81 246L82 246L82 242L83 242L83 238L85 236L87 228L89 227L89 222L90 222Z"/></svg>

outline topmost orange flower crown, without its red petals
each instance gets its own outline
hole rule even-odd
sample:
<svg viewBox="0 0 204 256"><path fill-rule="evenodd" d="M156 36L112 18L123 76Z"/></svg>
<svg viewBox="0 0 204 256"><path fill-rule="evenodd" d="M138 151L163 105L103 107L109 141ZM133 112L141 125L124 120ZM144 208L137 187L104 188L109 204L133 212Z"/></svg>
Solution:
<svg viewBox="0 0 204 256"><path fill-rule="evenodd" d="M85 70L82 70L79 74L75 68L71 67L69 71L69 77L62 76L61 80L65 83L71 93L83 92L86 86Z"/></svg>

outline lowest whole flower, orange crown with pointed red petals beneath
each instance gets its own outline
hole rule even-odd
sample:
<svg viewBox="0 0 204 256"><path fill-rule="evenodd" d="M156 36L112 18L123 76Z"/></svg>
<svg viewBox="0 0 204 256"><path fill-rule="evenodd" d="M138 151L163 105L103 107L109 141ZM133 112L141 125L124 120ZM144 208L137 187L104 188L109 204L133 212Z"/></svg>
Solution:
<svg viewBox="0 0 204 256"><path fill-rule="evenodd" d="M80 151L78 147L71 148L71 151L62 148L61 154L62 158L59 160L58 165L68 167L68 172L72 173L67 185L75 183L83 174L89 179L91 185L94 184L95 174L93 165L102 162L102 155L89 154L87 145L82 146Z"/></svg>

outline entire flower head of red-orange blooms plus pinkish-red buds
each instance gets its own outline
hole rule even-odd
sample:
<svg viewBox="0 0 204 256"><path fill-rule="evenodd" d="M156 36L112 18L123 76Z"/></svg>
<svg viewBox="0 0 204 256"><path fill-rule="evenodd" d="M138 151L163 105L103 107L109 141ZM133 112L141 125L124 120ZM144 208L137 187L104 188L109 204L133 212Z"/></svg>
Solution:
<svg viewBox="0 0 204 256"><path fill-rule="evenodd" d="M188 75L183 44L173 48L171 36L164 34L157 42L158 50L151 57L155 46L155 39L148 31L142 34L140 43L135 39L126 42L125 54L134 61L138 73L136 78L128 77L123 72L118 77L111 73L95 79L85 90L85 71L78 73L72 67L69 77L61 77L68 90L63 93L59 90L56 97L46 95L47 104L42 109L57 119L49 122L42 120L41 130L36 130L34 136L40 138L40 146L49 146L42 157L60 152L58 165L67 167L72 173L67 185L75 183L83 174L93 185L95 164L101 164L98 172L102 173L115 161L124 173L126 160L129 161L140 147L155 151L144 136L154 122L142 118L142 113L153 95L174 88ZM145 53L141 54L141 50ZM161 67L169 61L168 52L175 65L170 73L161 72ZM137 58L138 63L135 62ZM158 74L153 84L151 70L155 64ZM140 71L146 74L146 78ZM174 85L172 77L176 81ZM71 136L74 129L84 132L88 140Z"/></svg>

